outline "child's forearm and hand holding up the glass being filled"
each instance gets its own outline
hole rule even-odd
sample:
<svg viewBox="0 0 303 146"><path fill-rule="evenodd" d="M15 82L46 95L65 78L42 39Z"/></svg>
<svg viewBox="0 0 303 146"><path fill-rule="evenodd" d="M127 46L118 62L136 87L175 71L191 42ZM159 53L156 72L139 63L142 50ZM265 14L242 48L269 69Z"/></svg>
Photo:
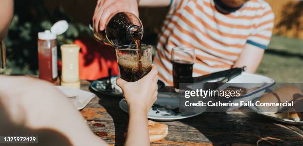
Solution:
<svg viewBox="0 0 303 146"><path fill-rule="evenodd" d="M152 70L136 82L117 80L129 107L126 146L149 146L147 113L157 99L158 71Z"/></svg>

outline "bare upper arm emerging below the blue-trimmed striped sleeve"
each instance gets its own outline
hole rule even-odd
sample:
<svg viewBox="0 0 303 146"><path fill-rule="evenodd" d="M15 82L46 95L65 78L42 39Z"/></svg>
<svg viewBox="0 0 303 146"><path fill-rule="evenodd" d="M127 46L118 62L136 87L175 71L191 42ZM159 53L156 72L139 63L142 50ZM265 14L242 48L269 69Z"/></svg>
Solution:
<svg viewBox="0 0 303 146"><path fill-rule="evenodd" d="M264 49L251 44L246 44L233 67L246 66L246 72L254 73L262 61L263 54Z"/></svg>

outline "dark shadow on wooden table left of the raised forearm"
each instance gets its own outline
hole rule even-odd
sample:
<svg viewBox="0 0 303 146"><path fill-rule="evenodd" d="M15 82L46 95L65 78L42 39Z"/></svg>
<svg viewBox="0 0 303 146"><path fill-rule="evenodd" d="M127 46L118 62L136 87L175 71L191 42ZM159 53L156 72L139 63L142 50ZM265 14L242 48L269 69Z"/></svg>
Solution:
<svg viewBox="0 0 303 146"><path fill-rule="evenodd" d="M90 91L95 93L99 98L99 104L103 106L107 113L112 117L115 125L115 146L123 146L128 123L128 114L120 109L119 102L122 97L109 97L95 92L90 88Z"/></svg>

